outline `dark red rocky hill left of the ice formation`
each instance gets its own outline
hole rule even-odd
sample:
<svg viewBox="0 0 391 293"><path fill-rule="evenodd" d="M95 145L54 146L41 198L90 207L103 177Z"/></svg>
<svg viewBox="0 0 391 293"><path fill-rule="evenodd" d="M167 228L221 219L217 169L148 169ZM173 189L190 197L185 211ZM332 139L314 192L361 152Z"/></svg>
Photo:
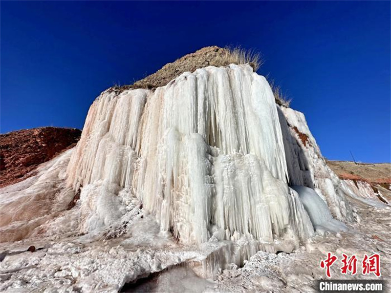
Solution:
<svg viewBox="0 0 391 293"><path fill-rule="evenodd" d="M22 181L39 164L74 146L81 135L76 128L40 127L0 135L0 187Z"/></svg>

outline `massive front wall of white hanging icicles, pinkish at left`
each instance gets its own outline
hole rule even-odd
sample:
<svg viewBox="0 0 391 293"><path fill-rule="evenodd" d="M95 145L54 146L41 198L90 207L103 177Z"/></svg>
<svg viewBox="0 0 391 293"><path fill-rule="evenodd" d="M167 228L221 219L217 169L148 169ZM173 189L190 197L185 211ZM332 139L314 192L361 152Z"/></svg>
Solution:
<svg viewBox="0 0 391 293"><path fill-rule="evenodd" d="M313 234L289 179L272 90L249 65L186 72L154 92L106 91L67 168L82 230L110 225L137 197L186 244Z"/></svg>

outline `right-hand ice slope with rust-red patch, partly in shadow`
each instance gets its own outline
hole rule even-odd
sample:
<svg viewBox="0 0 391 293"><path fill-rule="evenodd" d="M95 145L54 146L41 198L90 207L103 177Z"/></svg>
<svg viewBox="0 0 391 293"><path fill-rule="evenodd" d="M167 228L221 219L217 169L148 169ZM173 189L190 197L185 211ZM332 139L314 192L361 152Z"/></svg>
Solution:
<svg viewBox="0 0 391 293"><path fill-rule="evenodd" d="M326 165L304 114L278 107L289 185L312 188L326 202L333 217L352 221L355 214L347 201L354 192Z"/></svg>

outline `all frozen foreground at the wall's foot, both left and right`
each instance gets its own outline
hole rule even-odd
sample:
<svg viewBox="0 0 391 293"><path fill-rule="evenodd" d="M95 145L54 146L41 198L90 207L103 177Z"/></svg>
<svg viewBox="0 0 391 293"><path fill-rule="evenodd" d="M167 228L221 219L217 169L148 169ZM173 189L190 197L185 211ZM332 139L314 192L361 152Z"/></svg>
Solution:
<svg viewBox="0 0 391 293"><path fill-rule="evenodd" d="M305 246L292 253L259 251L242 268L224 270L221 274L202 278L202 259L215 247L186 247L159 232L152 217L144 217L130 235L109 240L95 240L83 236L61 241L21 241L3 244L9 250L0 263L0 290L5 292L117 292L127 282L140 277L146 279L127 284L124 292L315 292L314 280L326 278L319 267L327 252L342 253L362 259L363 255L380 254L382 278L391 272L391 213L390 208L368 207L354 202L361 217L360 223L348 224L341 233L316 235ZM144 232L142 232L144 230ZM145 230L148 230L146 233ZM144 236L143 236L144 235ZM139 245L134 244L137 241ZM141 240L141 241L140 241ZM26 251L30 245L39 250ZM4 254L2 254L4 257ZM2 258L2 257L1 257ZM338 261L339 261L338 260ZM175 266L175 265L182 266ZM152 272L155 273L149 276ZM340 264L331 269L332 277L344 276Z"/></svg>

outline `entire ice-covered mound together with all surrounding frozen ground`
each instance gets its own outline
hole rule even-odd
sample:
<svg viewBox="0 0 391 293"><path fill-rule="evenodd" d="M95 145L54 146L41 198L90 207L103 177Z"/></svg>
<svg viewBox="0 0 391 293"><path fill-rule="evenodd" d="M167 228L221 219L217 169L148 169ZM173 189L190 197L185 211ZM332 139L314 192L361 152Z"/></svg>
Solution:
<svg viewBox="0 0 391 293"><path fill-rule="evenodd" d="M327 252L390 276L390 207L249 65L103 92L78 145L0 196L2 291L312 292Z"/></svg>

